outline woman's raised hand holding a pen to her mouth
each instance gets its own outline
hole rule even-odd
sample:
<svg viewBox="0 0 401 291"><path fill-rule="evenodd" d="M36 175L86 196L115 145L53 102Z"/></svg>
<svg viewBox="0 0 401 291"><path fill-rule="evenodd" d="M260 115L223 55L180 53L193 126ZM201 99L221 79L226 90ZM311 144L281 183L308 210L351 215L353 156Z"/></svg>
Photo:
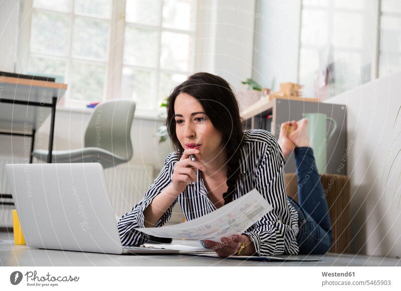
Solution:
<svg viewBox="0 0 401 291"><path fill-rule="evenodd" d="M177 193L181 193L186 185L196 181L196 168L205 171L206 168L199 160L199 150L196 148L187 148L183 151L179 161L175 163L173 173L171 175L171 186ZM192 161L190 155L194 154L196 160Z"/></svg>

